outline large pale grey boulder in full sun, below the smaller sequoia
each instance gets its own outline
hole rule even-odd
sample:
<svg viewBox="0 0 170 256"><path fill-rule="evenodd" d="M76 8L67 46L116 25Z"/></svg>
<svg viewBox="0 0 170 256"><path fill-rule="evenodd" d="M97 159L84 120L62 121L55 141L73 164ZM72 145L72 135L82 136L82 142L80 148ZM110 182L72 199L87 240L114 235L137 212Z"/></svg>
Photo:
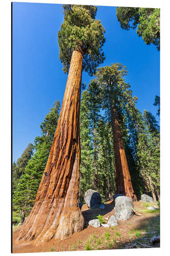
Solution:
<svg viewBox="0 0 170 256"><path fill-rule="evenodd" d="M117 220L125 221L133 216L133 202L129 197L117 197L115 199L114 216Z"/></svg>

